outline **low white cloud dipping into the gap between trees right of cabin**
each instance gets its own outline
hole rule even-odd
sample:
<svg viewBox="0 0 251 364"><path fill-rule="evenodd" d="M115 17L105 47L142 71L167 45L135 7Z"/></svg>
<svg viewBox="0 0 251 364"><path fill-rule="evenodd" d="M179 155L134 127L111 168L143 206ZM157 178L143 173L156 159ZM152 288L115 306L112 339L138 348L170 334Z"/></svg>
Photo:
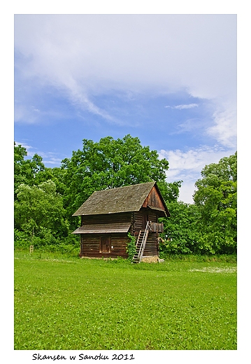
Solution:
<svg viewBox="0 0 251 364"><path fill-rule="evenodd" d="M194 183L201 178L203 167L210 165L210 163L217 163L221 158L233 155L235 152L235 149L223 151L217 146L215 148L201 146L201 148L187 152L162 150L159 151L159 158L166 158L169 162L166 181L183 181L179 200L192 203L192 195L195 190Z"/></svg>

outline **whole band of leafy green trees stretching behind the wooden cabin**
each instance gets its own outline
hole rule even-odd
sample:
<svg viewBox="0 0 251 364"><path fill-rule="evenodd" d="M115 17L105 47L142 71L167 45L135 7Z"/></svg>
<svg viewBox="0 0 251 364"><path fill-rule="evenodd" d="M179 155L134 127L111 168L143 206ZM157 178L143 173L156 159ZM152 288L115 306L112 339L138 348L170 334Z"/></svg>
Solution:
<svg viewBox="0 0 251 364"><path fill-rule="evenodd" d="M27 150L14 143L15 247L78 249L71 232L80 221L72 214L95 190L156 181L171 213L160 219L162 255L236 253L237 153L203 168L193 204L178 202L182 181L168 183L167 171L168 160L129 134L83 139L82 150L54 168L37 154L27 159Z"/></svg>

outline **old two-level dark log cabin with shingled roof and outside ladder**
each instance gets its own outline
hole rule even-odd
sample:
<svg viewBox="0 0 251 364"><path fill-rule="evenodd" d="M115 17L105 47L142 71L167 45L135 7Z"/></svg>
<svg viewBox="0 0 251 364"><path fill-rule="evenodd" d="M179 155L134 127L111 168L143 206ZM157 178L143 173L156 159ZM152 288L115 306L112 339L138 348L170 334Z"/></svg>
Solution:
<svg viewBox="0 0 251 364"><path fill-rule="evenodd" d="M158 256L158 218L170 216L157 183L94 192L73 216L81 216L80 257L127 258L128 233L136 237L135 261Z"/></svg>

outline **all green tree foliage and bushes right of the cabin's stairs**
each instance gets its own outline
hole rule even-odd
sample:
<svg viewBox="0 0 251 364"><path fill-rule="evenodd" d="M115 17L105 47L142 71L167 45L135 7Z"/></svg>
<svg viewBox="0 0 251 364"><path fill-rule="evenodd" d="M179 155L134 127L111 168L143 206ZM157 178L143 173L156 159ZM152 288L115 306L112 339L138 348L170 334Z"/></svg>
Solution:
<svg viewBox="0 0 251 364"><path fill-rule="evenodd" d="M201 177L194 204L166 200L171 217L162 219L162 253L236 253L237 153L206 165Z"/></svg>

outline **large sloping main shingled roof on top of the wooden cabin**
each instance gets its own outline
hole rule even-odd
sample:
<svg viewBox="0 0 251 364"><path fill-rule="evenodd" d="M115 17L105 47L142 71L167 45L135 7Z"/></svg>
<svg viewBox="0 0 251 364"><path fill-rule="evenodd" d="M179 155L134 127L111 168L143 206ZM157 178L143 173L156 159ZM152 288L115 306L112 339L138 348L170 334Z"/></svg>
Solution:
<svg viewBox="0 0 251 364"><path fill-rule="evenodd" d="M73 216L139 211L155 182L94 192Z"/></svg>

